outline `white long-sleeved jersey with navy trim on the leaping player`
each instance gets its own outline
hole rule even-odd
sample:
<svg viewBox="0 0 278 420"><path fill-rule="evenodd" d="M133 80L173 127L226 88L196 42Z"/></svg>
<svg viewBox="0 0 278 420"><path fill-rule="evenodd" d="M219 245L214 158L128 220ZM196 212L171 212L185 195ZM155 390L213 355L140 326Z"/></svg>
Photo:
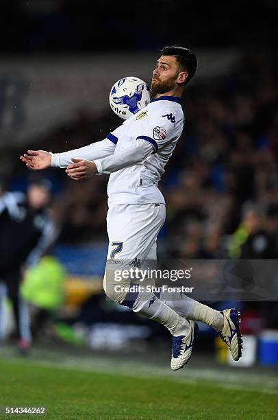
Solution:
<svg viewBox="0 0 278 420"><path fill-rule="evenodd" d="M51 166L65 167L72 157L93 160L99 175L110 174L109 205L164 203L157 184L183 127L180 98L162 96L124 121L105 140L53 154Z"/></svg>

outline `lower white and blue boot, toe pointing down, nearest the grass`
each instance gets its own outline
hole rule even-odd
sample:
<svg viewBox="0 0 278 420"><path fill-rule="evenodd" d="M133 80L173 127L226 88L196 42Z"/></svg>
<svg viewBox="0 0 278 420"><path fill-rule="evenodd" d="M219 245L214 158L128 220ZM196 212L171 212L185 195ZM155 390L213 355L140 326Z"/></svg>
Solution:
<svg viewBox="0 0 278 420"><path fill-rule="evenodd" d="M197 338L197 331L199 329L197 323L188 320L189 331L186 336L173 337L172 341L172 359L171 369L177 371L187 364L191 358L193 342Z"/></svg>

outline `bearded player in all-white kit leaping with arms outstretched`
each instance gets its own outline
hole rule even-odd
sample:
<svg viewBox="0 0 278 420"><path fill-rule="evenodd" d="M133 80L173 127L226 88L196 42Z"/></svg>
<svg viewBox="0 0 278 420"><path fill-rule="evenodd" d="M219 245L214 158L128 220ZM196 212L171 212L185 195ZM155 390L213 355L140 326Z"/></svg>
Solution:
<svg viewBox="0 0 278 420"><path fill-rule="evenodd" d="M218 312L184 294L179 300L160 299L152 292L129 292L130 279L116 282L109 275L112 260L134 265L156 259L156 237L165 220L165 201L157 187L184 126L181 95L197 69L197 57L184 47L164 47L153 70L155 99L123 122L106 139L84 148L52 154L29 150L21 160L31 170L66 168L73 180L110 174L108 182L108 264L103 287L110 299L165 325L173 336L171 368L188 362L200 320L227 343L234 360L242 351L240 314ZM129 264L130 265L130 264ZM116 287L121 285L122 287ZM168 300L166 300L168 299Z"/></svg>

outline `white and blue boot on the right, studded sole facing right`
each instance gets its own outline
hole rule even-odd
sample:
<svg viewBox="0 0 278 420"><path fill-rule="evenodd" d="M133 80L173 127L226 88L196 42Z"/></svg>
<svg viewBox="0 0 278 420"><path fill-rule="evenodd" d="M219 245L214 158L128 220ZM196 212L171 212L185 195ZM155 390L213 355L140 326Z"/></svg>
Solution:
<svg viewBox="0 0 278 420"><path fill-rule="evenodd" d="M231 351L231 356L236 362L242 355L242 335L240 334L240 312L236 309L220 311L224 317L223 330L218 334Z"/></svg>

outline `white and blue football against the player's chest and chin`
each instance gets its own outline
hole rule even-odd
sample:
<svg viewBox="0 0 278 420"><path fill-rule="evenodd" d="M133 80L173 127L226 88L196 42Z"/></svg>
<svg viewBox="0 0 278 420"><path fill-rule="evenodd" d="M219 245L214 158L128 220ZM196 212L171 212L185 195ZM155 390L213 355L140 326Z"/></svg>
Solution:
<svg viewBox="0 0 278 420"><path fill-rule="evenodd" d="M118 80L110 91L109 103L116 115L128 119L151 102L151 90L144 80L129 76Z"/></svg>

